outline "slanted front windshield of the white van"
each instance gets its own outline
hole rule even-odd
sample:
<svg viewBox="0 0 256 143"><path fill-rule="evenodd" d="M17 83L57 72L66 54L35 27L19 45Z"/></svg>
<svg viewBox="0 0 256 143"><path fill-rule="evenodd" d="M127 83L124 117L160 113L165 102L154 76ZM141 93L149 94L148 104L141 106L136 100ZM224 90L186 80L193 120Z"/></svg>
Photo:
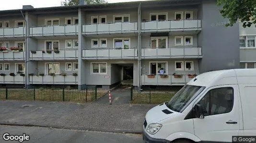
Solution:
<svg viewBox="0 0 256 143"><path fill-rule="evenodd" d="M166 102L166 106L175 112L183 112L183 110L192 102L205 87L186 84L179 90L174 97Z"/></svg>

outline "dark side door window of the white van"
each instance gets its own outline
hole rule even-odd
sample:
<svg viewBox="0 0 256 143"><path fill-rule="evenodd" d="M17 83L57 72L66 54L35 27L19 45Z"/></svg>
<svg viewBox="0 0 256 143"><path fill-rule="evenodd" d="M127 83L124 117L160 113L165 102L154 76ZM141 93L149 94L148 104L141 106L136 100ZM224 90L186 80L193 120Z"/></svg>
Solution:
<svg viewBox="0 0 256 143"><path fill-rule="evenodd" d="M234 92L232 87L212 89L198 102L202 105L204 115L217 115L231 112L233 109Z"/></svg>

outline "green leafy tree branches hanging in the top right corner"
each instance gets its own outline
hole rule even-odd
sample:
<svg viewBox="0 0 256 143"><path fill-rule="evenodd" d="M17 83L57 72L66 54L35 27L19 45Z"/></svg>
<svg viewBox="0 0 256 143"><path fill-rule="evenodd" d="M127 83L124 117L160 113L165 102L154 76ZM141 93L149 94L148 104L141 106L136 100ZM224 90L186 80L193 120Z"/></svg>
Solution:
<svg viewBox="0 0 256 143"><path fill-rule="evenodd" d="M218 0L218 6L224 18L229 19L226 26L233 26L237 20L243 22L243 27L256 27L256 0Z"/></svg>

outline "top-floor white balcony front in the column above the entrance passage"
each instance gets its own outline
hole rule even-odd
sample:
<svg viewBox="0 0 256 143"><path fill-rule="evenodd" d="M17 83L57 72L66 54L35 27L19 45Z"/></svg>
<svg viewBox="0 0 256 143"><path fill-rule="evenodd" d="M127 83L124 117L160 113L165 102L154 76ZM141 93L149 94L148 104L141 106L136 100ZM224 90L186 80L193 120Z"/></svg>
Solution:
<svg viewBox="0 0 256 143"><path fill-rule="evenodd" d="M128 33L137 32L137 22L118 22L104 24L87 24L82 26L83 34Z"/></svg>

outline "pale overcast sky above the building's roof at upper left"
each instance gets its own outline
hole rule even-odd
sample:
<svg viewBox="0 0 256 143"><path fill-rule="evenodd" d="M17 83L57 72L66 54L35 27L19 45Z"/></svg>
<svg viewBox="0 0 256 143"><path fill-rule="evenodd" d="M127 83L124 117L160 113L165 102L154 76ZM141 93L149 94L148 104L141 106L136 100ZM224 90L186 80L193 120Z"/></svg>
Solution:
<svg viewBox="0 0 256 143"><path fill-rule="evenodd" d="M34 8L60 6L65 0L0 0L0 10L22 9L23 5L32 5ZM107 0L109 3L142 0Z"/></svg>

